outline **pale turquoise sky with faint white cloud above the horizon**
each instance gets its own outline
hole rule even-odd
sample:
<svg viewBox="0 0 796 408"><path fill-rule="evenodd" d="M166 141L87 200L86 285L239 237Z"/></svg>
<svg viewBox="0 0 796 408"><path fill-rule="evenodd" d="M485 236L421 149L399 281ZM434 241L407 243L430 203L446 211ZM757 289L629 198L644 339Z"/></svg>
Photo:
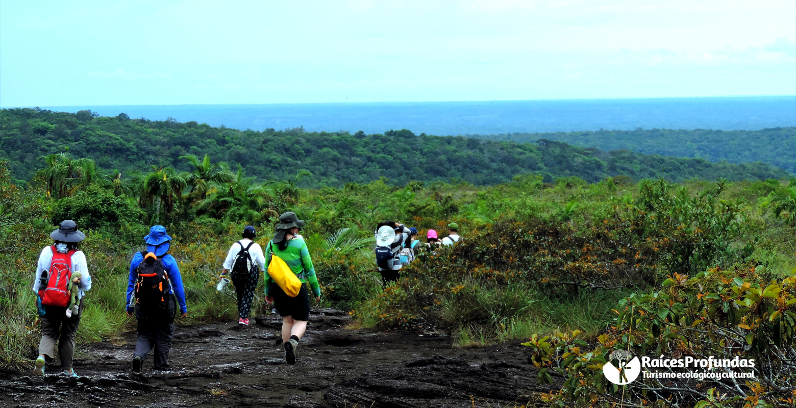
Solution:
<svg viewBox="0 0 796 408"><path fill-rule="evenodd" d="M0 2L0 107L794 94L793 0Z"/></svg>

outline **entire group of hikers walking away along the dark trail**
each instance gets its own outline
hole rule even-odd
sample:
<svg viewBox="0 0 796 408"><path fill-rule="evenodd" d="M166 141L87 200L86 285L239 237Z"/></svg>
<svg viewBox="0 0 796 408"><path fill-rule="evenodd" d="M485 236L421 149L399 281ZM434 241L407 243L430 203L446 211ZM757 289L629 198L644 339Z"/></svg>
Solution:
<svg viewBox="0 0 796 408"><path fill-rule="evenodd" d="M232 244L219 276L219 290L228 282L235 286L238 324L248 325L259 274L264 273L265 300L283 318L284 358L295 364L298 342L310 316L310 290L321 301L321 289L310 252L302 235L304 227L295 212L279 216L273 238L265 252L255 242L256 229L244 228L241 239ZM422 251L435 252L441 246L458 243L458 225L448 224L449 234L439 239L435 230L427 231L427 242L420 243L418 230L395 221L379 223L376 237L377 267L384 285L397 281L402 266L412 262ZM77 377L72 368L75 336L84 308L84 295L92 288L86 256L80 251L85 235L72 220L64 220L50 234L53 245L41 251L33 282L41 321L41 341L35 375L45 375L45 365L55 358L55 345L63 373ZM178 262L169 254L171 237L166 227L155 225L144 238L146 250L136 252L130 262L127 284L127 315L137 321L138 338L132 358L132 371L142 371L143 363L154 350L155 370L168 370L174 319L177 310L188 316L185 289ZM229 277L229 278L228 278Z"/></svg>

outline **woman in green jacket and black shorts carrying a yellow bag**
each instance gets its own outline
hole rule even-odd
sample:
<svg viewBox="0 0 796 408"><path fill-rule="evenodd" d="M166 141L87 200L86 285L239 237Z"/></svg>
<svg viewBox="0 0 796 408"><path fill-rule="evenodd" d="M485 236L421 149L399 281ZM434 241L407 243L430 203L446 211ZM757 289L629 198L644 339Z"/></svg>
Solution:
<svg viewBox="0 0 796 408"><path fill-rule="evenodd" d="M295 212L285 212L279 216L274 238L265 249L269 268L269 273L265 274L265 301L273 304L282 317L282 340L285 345L285 362L288 364L296 363L298 340L301 340L306 330L306 322L310 320L307 286L312 288L315 302L321 301L321 287L318 286L310 251L307 250L304 239L298 235L302 227L304 221L298 220ZM285 289L271 278L271 261L274 255L284 261L295 274L295 278L301 282L301 289L294 297L285 293Z"/></svg>

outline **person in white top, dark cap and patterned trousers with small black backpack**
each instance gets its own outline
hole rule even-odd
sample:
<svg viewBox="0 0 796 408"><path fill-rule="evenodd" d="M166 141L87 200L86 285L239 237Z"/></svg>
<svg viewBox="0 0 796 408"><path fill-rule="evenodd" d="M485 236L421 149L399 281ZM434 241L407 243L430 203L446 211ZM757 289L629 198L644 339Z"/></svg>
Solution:
<svg viewBox="0 0 796 408"><path fill-rule="evenodd" d="M232 270L232 284L238 297L238 324L248 326L248 314L252 309L254 289L259 281L259 271L265 270L263 249L254 242L257 232L251 225L244 228L243 239L233 243L224 259L221 279Z"/></svg>

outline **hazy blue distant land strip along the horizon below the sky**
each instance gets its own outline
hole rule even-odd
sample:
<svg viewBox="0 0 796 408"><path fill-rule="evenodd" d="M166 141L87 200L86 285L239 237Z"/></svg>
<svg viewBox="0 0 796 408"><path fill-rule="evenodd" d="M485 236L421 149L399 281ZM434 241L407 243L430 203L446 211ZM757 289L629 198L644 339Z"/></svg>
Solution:
<svg viewBox="0 0 796 408"><path fill-rule="evenodd" d="M261 105L128 105L42 107L103 116L205 122L235 129L366 134L409 129L415 134L511 134L581 130L710 129L759 130L796 126L796 95L579 99L418 103L281 103Z"/></svg>

